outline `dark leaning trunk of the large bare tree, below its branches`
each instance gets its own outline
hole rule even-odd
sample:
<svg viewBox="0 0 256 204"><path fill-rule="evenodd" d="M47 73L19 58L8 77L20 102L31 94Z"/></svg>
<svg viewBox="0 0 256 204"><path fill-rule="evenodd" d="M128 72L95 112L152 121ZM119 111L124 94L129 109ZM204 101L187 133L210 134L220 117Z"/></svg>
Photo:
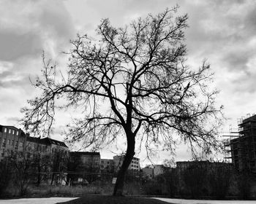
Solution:
<svg viewBox="0 0 256 204"><path fill-rule="evenodd" d="M121 196L124 189L124 176L129 168L129 164L132 162L132 158L135 155L135 135L130 133L127 135L127 153L125 154L124 161L118 171L116 185L114 187L113 195Z"/></svg>

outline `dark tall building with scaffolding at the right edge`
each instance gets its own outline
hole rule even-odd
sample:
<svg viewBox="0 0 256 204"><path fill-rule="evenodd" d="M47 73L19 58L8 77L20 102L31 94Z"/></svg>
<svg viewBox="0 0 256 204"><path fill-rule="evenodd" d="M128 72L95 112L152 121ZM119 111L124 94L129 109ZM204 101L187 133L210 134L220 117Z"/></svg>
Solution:
<svg viewBox="0 0 256 204"><path fill-rule="evenodd" d="M230 141L232 163L236 169L256 173L256 115L241 119L238 138Z"/></svg>

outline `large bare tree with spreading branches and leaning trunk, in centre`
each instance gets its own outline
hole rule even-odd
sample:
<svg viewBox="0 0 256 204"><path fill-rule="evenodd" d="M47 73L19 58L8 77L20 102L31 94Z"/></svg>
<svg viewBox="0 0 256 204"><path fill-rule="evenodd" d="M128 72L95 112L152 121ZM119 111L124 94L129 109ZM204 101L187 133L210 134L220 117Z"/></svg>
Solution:
<svg viewBox="0 0 256 204"><path fill-rule="evenodd" d="M185 65L187 15L176 17L176 9L139 18L124 28L102 20L97 39L84 35L71 42L67 77L62 79L56 66L43 57L43 77L34 84L42 95L23 109L26 127L50 133L55 103L66 99L59 108L83 110L83 118L70 126L69 136L83 141L85 148L94 150L125 136L126 156L113 195L122 193L136 140L148 155L161 144L172 151L176 136L194 154L195 146L210 151L218 144L217 91L207 89L211 73L206 63L198 70Z"/></svg>

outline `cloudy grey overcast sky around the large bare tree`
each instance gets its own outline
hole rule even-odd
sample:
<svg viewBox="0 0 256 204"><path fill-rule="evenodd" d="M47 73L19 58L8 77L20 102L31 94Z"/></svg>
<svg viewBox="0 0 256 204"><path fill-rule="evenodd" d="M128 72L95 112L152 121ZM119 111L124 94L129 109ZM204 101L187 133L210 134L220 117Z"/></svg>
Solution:
<svg viewBox="0 0 256 204"><path fill-rule="evenodd" d="M204 59L211 63L220 90L217 103L229 118L224 129L236 127L238 118L256 112L256 1L1 0L0 124L20 127L20 108L37 95L29 77L40 73L42 50L64 68L67 56L61 51L69 50L69 40L78 33L95 34L102 18L124 26L176 4L180 14L189 15L188 64L198 67ZM63 122L57 119L53 138L61 139ZM178 149L176 160L188 159L187 149Z"/></svg>

